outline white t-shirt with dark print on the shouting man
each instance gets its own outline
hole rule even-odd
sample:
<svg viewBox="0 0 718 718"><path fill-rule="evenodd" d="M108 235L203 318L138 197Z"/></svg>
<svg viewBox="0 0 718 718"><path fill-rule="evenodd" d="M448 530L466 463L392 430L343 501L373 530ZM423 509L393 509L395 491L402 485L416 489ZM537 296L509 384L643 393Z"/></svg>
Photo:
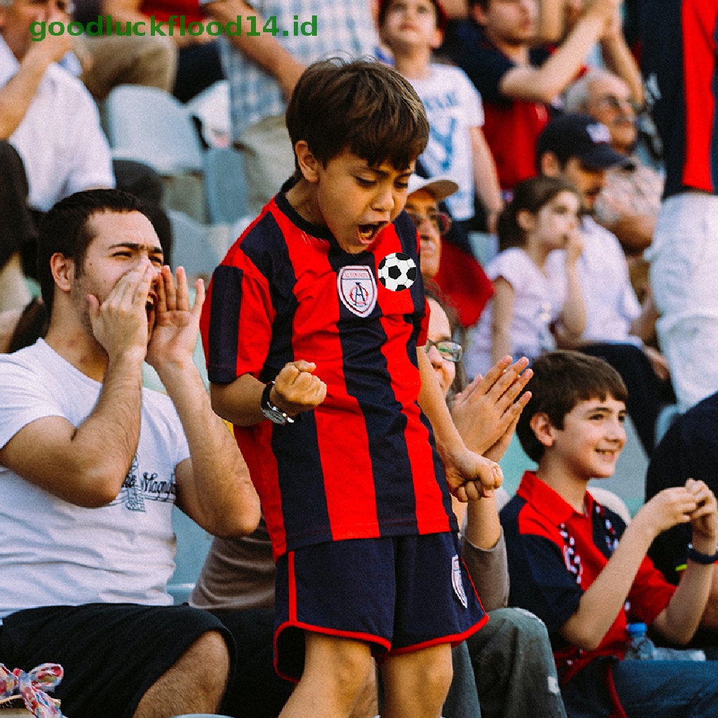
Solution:
<svg viewBox="0 0 718 718"><path fill-rule="evenodd" d="M45 416L78 426L101 386L43 340L0 355L0 447ZM110 504L76 506L0 466L0 618L39 606L172 603L174 468L189 456L172 401L144 389L137 452Z"/></svg>

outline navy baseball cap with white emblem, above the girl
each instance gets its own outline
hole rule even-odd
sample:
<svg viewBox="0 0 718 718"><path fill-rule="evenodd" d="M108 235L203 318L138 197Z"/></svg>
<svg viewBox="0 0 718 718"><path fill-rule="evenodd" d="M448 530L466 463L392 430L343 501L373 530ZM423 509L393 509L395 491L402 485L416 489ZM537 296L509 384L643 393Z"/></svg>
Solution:
<svg viewBox="0 0 718 718"><path fill-rule="evenodd" d="M540 161L549 151L561 164L578 157L591 169L608 169L627 162L612 148L607 126L589 115L569 113L551 120L536 140L536 159Z"/></svg>

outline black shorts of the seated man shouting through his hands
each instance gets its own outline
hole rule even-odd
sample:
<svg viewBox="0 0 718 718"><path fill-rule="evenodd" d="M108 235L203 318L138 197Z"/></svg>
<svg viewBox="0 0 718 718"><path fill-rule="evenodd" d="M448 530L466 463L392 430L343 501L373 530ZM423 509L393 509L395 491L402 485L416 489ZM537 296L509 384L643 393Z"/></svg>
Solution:
<svg viewBox="0 0 718 718"><path fill-rule="evenodd" d="M131 718L147 689L208 631L218 631L227 642L230 674L235 666L229 631L190 606L32 608L4 618L0 630L0 662L8 668L29 671L40 663L60 663L65 669L54 695L72 718Z"/></svg>

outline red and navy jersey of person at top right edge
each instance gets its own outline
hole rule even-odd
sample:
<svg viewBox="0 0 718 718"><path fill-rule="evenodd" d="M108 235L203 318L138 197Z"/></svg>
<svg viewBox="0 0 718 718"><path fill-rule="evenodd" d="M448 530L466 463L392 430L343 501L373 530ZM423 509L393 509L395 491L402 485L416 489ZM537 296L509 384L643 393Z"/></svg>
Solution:
<svg viewBox="0 0 718 718"><path fill-rule="evenodd" d="M643 0L641 66L657 97L664 197L686 187L717 192L716 70L718 0Z"/></svg>

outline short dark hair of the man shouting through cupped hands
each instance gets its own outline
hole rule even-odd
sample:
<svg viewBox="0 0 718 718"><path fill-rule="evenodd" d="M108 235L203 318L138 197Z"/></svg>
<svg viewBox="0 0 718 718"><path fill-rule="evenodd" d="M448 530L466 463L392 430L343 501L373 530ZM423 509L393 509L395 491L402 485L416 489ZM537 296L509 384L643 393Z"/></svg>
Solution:
<svg viewBox="0 0 718 718"><path fill-rule="evenodd" d="M50 270L50 258L55 253L75 263L77 275L83 273L85 257L94 236L90 232L90 218L105 212L140 212L149 216L137 197L121 190L85 190L57 202L42 219L37 239L37 278L47 313L52 314L55 279Z"/></svg>

